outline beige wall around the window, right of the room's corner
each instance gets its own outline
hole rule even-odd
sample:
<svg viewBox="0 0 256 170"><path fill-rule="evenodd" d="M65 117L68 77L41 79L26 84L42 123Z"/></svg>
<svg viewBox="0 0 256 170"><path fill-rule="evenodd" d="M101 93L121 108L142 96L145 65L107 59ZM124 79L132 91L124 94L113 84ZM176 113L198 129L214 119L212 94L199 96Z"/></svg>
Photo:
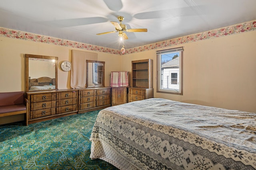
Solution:
<svg viewBox="0 0 256 170"><path fill-rule="evenodd" d="M153 59L155 98L256 113L255 37L251 31L183 44L182 96L156 92L156 51L161 49L123 55L122 70L131 71L127 63L132 60Z"/></svg>

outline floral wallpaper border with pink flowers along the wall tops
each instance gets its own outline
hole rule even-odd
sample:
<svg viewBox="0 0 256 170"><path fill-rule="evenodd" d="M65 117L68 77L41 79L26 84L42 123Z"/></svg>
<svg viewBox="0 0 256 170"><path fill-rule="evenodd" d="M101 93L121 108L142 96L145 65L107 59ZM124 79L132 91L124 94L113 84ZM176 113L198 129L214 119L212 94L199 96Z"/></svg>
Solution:
<svg viewBox="0 0 256 170"><path fill-rule="evenodd" d="M184 43L190 43L195 41L201 41L205 39L212 39L217 37L224 37L227 35L233 35L248 31L255 31L256 30L256 20L247 21L243 23L238 23L235 25L230 25L227 27L222 27L219 29L213 29L210 31L205 31L201 33L196 33L192 35L186 35L183 37L178 37L174 39L169 39L165 41L160 41L132 49L126 49L125 54L132 54L132 53L138 53L142 51L148 51L153 49L159 49L164 47L171 47L173 45L180 45ZM80 43L76 41L69 41L65 39L58 39L55 37L49 37L45 35L38 35L34 33L28 33L24 31L18 31L14 29L8 29L4 27L0 27L0 36L2 37L10 37L15 39L22 39L22 40L28 40L28 41L34 41L39 43L48 43L48 44L54 44L54 45L61 45L65 47L72 47L72 48L78 48L78 49L86 49L89 51L98 51L103 53L110 53L110 54L118 54L122 55L120 50L117 49L109 49L106 47L98 47L96 45L90 45L86 43Z"/></svg>

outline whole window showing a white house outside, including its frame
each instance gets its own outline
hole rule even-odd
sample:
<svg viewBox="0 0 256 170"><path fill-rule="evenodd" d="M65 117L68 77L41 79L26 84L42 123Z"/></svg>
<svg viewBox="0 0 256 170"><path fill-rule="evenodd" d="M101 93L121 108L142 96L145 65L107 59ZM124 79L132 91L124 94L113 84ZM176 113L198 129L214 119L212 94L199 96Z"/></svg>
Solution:
<svg viewBox="0 0 256 170"><path fill-rule="evenodd" d="M157 92L182 95L183 47L157 51Z"/></svg>

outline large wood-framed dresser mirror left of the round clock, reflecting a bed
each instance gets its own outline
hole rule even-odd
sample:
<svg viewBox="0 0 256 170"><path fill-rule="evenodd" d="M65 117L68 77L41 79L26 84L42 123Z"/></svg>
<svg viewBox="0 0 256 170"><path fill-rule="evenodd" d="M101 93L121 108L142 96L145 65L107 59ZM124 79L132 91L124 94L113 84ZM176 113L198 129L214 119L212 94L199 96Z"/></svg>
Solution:
<svg viewBox="0 0 256 170"><path fill-rule="evenodd" d="M58 57L26 54L26 91L58 89Z"/></svg>

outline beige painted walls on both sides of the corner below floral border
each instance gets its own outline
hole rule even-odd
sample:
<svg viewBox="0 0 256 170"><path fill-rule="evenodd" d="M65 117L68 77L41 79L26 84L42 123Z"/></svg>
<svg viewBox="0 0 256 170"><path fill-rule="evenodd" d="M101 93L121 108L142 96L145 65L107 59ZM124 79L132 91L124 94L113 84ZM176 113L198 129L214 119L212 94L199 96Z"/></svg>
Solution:
<svg viewBox="0 0 256 170"><path fill-rule="evenodd" d="M183 96L156 92L156 50L121 56L96 53L99 61L105 61L106 86L110 84L110 71L131 71L131 61L153 59L155 98L256 112L255 37L256 31L250 31L183 44ZM71 61L71 50L70 47L0 37L0 92L25 90L24 54L58 57L58 88L70 88L70 72L61 71L59 64L63 60Z"/></svg>

